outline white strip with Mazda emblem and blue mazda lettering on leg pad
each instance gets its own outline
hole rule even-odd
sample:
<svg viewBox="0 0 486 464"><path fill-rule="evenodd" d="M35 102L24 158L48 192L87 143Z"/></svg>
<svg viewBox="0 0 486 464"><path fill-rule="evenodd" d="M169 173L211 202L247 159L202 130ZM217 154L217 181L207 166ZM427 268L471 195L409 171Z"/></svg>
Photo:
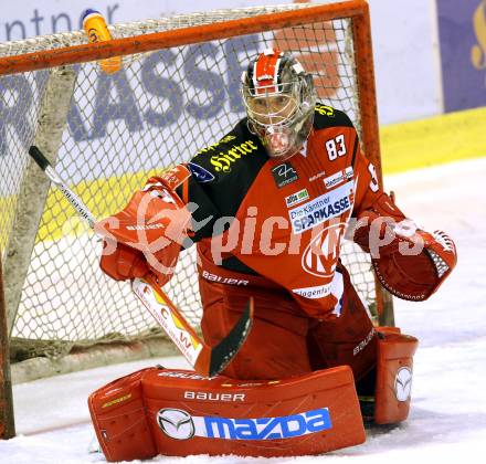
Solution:
<svg viewBox="0 0 486 464"><path fill-rule="evenodd" d="M324 432L332 428L328 408L279 418L229 419L190 415L180 409L157 413L160 430L171 439L193 436L223 440L285 440Z"/></svg>

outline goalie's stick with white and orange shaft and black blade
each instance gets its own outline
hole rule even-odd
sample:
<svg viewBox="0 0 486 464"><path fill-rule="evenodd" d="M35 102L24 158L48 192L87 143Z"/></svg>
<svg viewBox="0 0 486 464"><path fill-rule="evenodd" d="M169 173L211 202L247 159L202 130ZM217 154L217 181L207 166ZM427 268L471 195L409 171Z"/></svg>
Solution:
<svg viewBox="0 0 486 464"><path fill-rule="evenodd" d="M63 192L76 212L86 220L89 228L93 229L96 222L95 217L83 201L63 182L42 151L32 145L29 148L29 155L45 172L51 182ZM145 278L133 280L131 291L176 344L188 362L198 373L204 377L214 377L224 369L243 345L252 326L253 298L250 298L243 315L230 334L216 346L210 347L189 325L180 310L157 284L154 276L148 275Z"/></svg>

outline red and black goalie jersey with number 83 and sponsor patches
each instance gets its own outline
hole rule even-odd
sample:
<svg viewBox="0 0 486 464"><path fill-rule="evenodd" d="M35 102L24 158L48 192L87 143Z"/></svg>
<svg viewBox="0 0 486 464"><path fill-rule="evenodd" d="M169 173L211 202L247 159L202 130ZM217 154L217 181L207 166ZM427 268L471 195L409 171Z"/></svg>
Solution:
<svg viewBox="0 0 486 464"><path fill-rule="evenodd" d="M382 194L345 113L317 104L306 146L286 161L270 158L243 119L187 167L177 192L193 203L199 253L281 285L311 314L335 307L346 226Z"/></svg>

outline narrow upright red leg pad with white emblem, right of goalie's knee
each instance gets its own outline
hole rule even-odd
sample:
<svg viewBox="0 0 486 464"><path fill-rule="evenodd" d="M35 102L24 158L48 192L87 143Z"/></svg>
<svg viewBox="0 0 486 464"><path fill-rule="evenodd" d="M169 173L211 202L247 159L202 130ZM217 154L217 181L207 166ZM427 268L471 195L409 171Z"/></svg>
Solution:
<svg viewBox="0 0 486 464"><path fill-rule="evenodd" d="M398 329L383 327L378 330L374 422L402 422L409 416L413 355L419 340Z"/></svg>

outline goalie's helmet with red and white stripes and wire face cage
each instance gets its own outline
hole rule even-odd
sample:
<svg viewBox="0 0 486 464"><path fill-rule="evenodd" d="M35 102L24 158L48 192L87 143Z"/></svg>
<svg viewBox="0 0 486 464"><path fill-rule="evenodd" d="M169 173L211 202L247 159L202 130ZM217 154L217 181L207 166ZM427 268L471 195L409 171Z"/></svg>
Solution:
<svg viewBox="0 0 486 464"><path fill-rule="evenodd" d="M314 120L316 93L310 74L288 52L265 50L242 75L249 128L268 156L287 159L307 139Z"/></svg>

